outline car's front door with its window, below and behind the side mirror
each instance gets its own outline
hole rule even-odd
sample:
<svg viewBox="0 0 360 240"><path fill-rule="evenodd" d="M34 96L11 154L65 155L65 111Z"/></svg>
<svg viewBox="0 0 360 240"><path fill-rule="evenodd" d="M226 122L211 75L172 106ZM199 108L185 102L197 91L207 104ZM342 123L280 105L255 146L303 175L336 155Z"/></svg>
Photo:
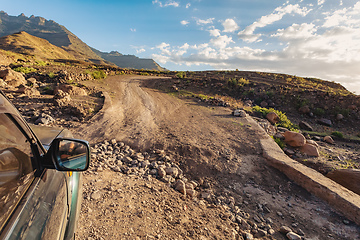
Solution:
<svg viewBox="0 0 360 240"><path fill-rule="evenodd" d="M62 239L65 234L67 173L40 168L40 145L0 94L0 239Z"/></svg>

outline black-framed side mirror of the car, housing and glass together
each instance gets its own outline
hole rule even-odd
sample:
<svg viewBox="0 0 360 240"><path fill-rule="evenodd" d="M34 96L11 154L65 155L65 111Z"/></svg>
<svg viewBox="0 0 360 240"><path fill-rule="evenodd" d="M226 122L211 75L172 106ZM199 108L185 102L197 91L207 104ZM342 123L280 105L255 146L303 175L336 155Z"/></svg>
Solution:
<svg viewBox="0 0 360 240"><path fill-rule="evenodd" d="M52 163L58 171L85 171L90 164L89 143L84 140L56 138L47 152L46 162ZM45 167L51 168L49 164Z"/></svg>

